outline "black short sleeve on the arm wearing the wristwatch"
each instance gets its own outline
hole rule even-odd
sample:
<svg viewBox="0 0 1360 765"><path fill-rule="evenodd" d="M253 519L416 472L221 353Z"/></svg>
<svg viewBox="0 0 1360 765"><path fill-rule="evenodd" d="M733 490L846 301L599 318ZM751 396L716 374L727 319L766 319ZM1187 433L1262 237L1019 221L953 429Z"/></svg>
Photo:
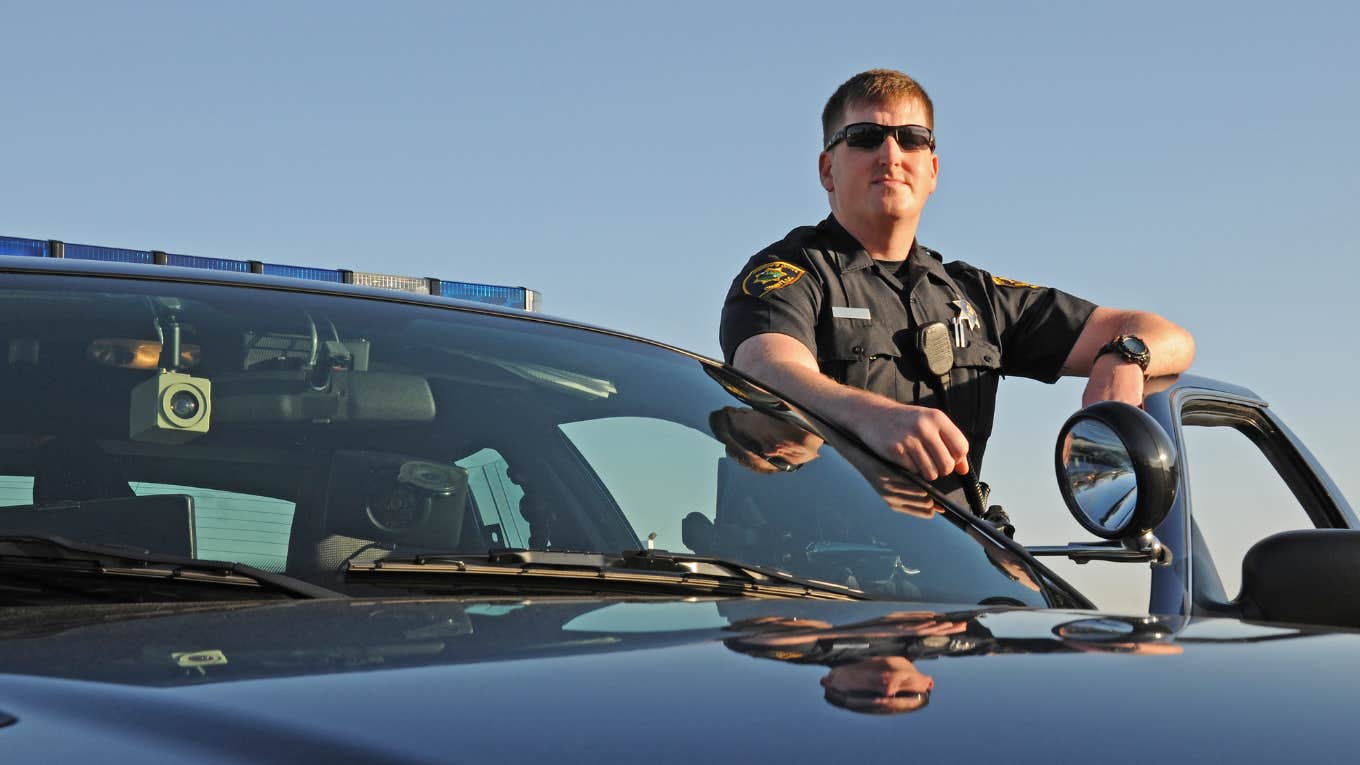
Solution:
<svg viewBox="0 0 1360 765"><path fill-rule="evenodd" d="M1053 287L982 276L997 317L1002 372L1057 381L1096 305Z"/></svg>

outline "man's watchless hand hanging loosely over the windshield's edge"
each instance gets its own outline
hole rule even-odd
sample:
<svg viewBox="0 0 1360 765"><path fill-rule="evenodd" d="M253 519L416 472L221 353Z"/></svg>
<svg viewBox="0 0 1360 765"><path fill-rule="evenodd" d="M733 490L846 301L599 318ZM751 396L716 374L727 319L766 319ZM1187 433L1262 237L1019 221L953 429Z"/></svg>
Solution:
<svg viewBox="0 0 1360 765"><path fill-rule="evenodd" d="M855 432L884 459L926 481L968 472L968 440L940 410L894 404L861 419Z"/></svg>

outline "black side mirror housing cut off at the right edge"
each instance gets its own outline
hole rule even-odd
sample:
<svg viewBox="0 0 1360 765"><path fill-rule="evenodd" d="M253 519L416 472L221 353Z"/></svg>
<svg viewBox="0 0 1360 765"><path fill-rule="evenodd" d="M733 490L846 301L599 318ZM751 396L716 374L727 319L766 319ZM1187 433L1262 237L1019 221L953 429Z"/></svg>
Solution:
<svg viewBox="0 0 1360 765"><path fill-rule="evenodd" d="M1242 559L1236 606L1246 619L1360 628L1360 531L1311 528L1266 536Z"/></svg>

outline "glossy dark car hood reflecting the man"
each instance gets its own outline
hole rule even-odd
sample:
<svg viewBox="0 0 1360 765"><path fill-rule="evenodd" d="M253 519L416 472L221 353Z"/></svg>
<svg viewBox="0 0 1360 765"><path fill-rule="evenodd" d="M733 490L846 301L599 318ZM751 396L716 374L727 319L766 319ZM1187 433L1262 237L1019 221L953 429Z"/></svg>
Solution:
<svg viewBox="0 0 1360 765"><path fill-rule="evenodd" d="M7 608L0 746L16 762L1257 762L1348 751L1357 633L903 608ZM874 672L906 672L918 687L928 678L933 690L904 694L923 702L911 712L849 709L865 694L839 693L839 678Z"/></svg>

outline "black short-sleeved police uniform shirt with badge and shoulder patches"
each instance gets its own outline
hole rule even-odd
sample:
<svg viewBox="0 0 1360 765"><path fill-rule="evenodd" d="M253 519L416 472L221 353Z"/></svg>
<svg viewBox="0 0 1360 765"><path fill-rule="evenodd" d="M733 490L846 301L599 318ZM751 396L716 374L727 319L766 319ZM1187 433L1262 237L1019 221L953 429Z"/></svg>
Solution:
<svg viewBox="0 0 1360 765"><path fill-rule="evenodd" d="M828 377L904 404L945 408L917 350L919 327L959 323L948 412L981 470L1004 374L1055 381L1095 305L1050 287L993 276L967 263L942 263L917 245L906 283L896 263L879 263L834 216L789 231L756 253L732 282L722 306L722 355L775 332L800 340Z"/></svg>

